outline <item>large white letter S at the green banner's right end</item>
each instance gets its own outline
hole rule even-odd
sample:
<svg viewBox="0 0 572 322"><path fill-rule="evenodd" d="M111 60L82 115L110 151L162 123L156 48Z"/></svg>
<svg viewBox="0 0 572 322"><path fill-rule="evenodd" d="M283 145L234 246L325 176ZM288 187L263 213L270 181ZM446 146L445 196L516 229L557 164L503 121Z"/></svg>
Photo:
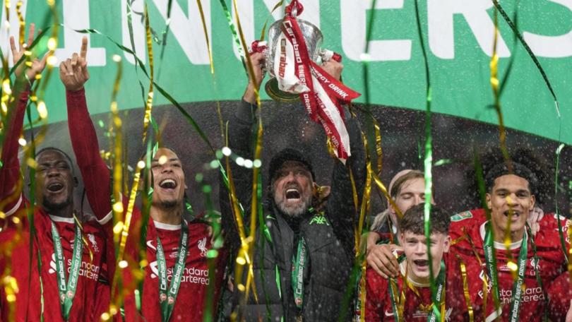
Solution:
<svg viewBox="0 0 572 322"><path fill-rule="evenodd" d="M547 0L565 6L572 11L572 0ZM572 56L572 30L564 35L545 36L523 32L523 37L537 56L564 58Z"/></svg>

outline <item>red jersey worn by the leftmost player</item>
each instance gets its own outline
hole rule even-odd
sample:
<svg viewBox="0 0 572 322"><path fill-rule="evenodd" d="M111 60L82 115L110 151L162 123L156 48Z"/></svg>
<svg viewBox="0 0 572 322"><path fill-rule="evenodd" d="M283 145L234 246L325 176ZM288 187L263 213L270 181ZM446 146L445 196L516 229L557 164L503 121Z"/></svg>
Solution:
<svg viewBox="0 0 572 322"><path fill-rule="evenodd" d="M27 201L24 200L23 203L27 204ZM22 204L20 207L22 210L24 205ZM40 321L42 316L41 292L43 292L44 299L44 321L64 321L59 304L52 222L56 225L61 238L66 264L66 278L69 277L73 239L76 234L73 218L51 216L41 208L35 208L34 225L37 231L37 239L32 241L32 263L30 265L30 226L27 220L23 222L20 235L21 242L13 250L11 256L11 275L16 278L19 290L16 294L16 314L14 316L16 321ZM2 234L14 237L16 227L9 227ZM83 222L82 236L84 243L82 261L69 321L97 321L99 312L95 310L97 297L94 297L94 294L97 294L97 285L100 284L97 280L102 274L101 266L105 261L105 234L103 234L99 224ZM37 263L38 257L40 257L40 267ZM41 282L40 278L42 279ZM7 307L8 304L5 304L5 301L6 299L2 299L3 304L1 306ZM2 315L8 314L7 311L2 311ZM4 319L8 321L8 316L4 316Z"/></svg>

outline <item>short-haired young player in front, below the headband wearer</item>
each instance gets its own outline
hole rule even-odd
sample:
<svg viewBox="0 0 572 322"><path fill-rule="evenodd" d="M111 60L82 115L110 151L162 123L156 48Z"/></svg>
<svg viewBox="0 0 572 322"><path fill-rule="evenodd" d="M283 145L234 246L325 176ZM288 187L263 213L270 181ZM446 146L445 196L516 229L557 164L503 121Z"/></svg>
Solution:
<svg viewBox="0 0 572 322"><path fill-rule="evenodd" d="M458 262L448 253L450 222L443 210L431 208L431 248L428 250L424 205L415 205L405 212L399 221L398 234L405 261L400 263L396 279L387 280L372 268L367 270L366 321L428 321L429 315L437 318L435 311L444 314L445 321L468 321L463 279ZM429 252L442 303L439 307L431 299Z"/></svg>

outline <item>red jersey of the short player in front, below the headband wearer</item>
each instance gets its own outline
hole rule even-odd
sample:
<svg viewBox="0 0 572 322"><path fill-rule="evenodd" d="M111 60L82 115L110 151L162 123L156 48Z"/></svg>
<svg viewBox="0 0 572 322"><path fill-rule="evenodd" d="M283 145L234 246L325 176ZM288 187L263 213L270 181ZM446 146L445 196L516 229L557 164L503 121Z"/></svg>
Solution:
<svg viewBox="0 0 572 322"><path fill-rule="evenodd" d="M469 314L458 262L451 254L443 254L443 258L447 268L445 319L446 321L468 321ZM405 271L403 263L401 268ZM403 274L404 272L398 278L399 290L403 290L404 287ZM405 321L427 321L431 309L431 288L429 285L415 285L411 281L410 284L413 286L405 285L404 319ZM382 278L372 268L368 268L366 288L365 320L371 322L395 321L388 280ZM481 321L479 307L473 306L473 309L475 310L475 321Z"/></svg>

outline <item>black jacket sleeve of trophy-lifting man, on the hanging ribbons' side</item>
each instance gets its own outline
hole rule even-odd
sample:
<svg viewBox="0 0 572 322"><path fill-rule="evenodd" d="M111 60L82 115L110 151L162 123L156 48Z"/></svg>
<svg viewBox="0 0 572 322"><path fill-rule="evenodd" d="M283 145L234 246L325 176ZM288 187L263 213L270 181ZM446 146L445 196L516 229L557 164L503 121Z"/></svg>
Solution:
<svg viewBox="0 0 572 322"><path fill-rule="evenodd" d="M326 213L334 233L342 242L347 254L354 253L354 225L357 225L359 208L354 205L350 171L354 175L358 201L361 202L366 173L365 151L362 133L357 118L347 119L347 132L350 135L351 156L346 165L335 161L332 175L332 189L326 205Z"/></svg>

